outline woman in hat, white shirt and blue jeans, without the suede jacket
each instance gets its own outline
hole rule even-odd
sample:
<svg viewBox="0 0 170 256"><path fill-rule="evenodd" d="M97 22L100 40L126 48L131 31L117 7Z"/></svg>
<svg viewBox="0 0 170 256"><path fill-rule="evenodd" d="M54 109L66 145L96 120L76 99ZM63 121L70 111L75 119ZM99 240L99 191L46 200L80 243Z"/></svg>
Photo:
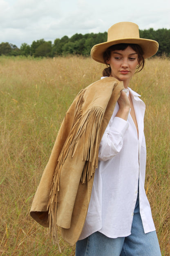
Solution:
<svg viewBox="0 0 170 256"><path fill-rule="evenodd" d="M128 25L135 29L129 23L117 23L108 36L118 29L128 30ZM136 69L138 72L143 69L146 54L148 57L153 52L142 47L142 39L109 41L94 46L92 57L107 64L103 77L123 81L125 90L121 91L101 139L98 169L85 225L76 243L76 256L161 256L144 190L145 105L140 95L128 87Z"/></svg>

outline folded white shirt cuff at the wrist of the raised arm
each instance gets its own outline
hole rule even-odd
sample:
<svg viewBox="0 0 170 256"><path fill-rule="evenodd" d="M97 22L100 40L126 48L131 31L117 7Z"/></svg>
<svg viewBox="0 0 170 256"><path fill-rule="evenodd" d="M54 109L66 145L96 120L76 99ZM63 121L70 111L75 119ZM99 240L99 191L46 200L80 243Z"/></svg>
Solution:
<svg viewBox="0 0 170 256"><path fill-rule="evenodd" d="M123 137L125 131L128 129L128 121L122 119L121 117L114 117L112 125L110 126L111 131L117 131Z"/></svg>

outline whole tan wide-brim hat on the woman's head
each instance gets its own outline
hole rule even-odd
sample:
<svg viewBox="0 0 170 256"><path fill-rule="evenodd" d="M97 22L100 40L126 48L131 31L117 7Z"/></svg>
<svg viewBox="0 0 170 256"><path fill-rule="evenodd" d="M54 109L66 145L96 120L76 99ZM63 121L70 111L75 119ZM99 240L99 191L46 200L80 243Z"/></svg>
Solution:
<svg viewBox="0 0 170 256"><path fill-rule="evenodd" d="M119 22L109 28L107 42L98 43L92 47L91 56L97 62L105 63L103 53L107 48L118 43L136 43L143 50L143 57L147 59L157 53L159 43L139 37L139 27L132 22Z"/></svg>

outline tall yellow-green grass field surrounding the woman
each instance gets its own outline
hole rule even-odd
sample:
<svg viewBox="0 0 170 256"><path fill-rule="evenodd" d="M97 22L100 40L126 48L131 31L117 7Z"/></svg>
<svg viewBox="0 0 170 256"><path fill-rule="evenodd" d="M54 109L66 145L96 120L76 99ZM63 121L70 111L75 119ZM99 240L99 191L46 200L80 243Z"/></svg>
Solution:
<svg viewBox="0 0 170 256"><path fill-rule="evenodd" d="M29 210L66 110L103 68L83 57L0 57L0 255L59 255ZM130 87L146 104L145 189L162 256L169 256L170 59L148 60ZM74 247L62 239L60 245L63 256L74 255Z"/></svg>

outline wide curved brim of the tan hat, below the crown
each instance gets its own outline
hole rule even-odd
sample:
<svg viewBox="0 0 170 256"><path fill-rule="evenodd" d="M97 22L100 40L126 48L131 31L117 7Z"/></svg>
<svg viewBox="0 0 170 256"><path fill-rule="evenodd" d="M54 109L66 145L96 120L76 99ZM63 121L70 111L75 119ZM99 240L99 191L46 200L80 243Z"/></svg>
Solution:
<svg viewBox="0 0 170 256"><path fill-rule="evenodd" d="M104 43L98 43L92 47L91 50L91 56L92 58L101 63L105 63L103 60L103 53L107 48L109 48L112 45L118 44L118 43L135 43L141 46L143 50L143 57L144 59L147 59L149 57L152 57L155 53L157 53L159 48L159 43L157 41L151 40L151 39L143 39L143 38L123 38L123 39L117 39L109 42Z"/></svg>

